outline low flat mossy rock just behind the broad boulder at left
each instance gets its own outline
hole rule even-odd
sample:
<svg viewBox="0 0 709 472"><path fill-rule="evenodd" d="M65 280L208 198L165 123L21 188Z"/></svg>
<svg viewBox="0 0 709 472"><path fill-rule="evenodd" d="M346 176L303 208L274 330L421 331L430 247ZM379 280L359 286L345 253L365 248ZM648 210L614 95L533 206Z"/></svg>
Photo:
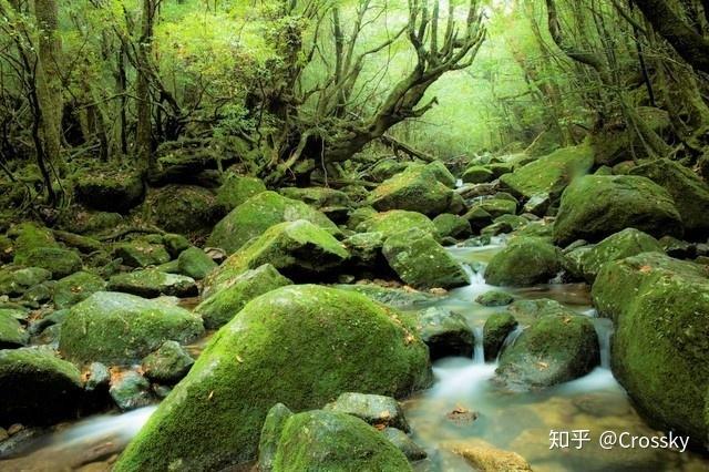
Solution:
<svg viewBox="0 0 709 472"><path fill-rule="evenodd" d="M145 298L155 298L161 295L185 298L196 297L199 294L197 284L192 277L167 274L157 269L114 275L109 279L107 289Z"/></svg>

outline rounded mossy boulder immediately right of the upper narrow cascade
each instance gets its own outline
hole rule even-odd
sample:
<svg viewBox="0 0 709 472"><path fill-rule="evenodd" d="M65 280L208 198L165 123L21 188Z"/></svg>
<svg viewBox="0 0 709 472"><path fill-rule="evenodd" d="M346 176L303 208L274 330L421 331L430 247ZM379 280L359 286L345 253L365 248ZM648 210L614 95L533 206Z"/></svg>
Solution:
<svg viewBox="0 0 709 472"><path fill-rule="evenodd" d="M543 238L515 238L490 260L485 281L508 287L545 284L562 270L563 257L557 247Z"/></svg>

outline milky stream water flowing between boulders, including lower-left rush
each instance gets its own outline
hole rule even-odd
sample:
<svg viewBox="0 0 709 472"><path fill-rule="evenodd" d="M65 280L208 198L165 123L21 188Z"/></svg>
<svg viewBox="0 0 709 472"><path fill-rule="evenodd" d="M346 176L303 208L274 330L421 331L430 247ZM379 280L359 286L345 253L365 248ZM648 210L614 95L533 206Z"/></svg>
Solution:
<svg viewBox="0 0 709 472"><path fill-rule="evenodd" d="M485 319L504 308L485 308L474 299L493 287L485 285L484 266L504 240L485 247L452 247L451 254L464 263L471 285L452 290L435 305L463 315L475 334L472 359L448 358L433 366L433 387L404 402L414 439L427 449L425 471L471 471L463 459L450 452L460 444L485 441L494 448L514 451L535 471L706 471L709 461L674 451L613 449L597 443L604 431L627 431L656 435L630 404L625 390L609 370L609 339L613 326L596 318L586 285L549 285L510 290L517 299L553 298L579 315L593 319L602 348L600 366L587 376L538 392L508 392L495 387L497 362L485 362L482 327ZM506 339L514 342L518 327ZM192 346L197 355L203 343ZM68 427L56 428L29 443L17 456L0 461L0 470L84 471L110 469L106 461L125 448L147 421L155 407L123 414L101 414ZM582 449L549 449L551 431L587 430L592 441Z"/></svg>

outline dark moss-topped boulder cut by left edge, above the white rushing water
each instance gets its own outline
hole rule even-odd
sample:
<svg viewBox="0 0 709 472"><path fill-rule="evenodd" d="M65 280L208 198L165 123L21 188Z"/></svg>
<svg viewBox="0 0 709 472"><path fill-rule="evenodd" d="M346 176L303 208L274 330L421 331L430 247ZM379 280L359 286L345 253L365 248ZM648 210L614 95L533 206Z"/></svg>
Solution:
<svg viewBox="0 0 709 472"><path fill-rule="evenodd" d="M0 424L49 425L76 414L79 369L48 349L0 350Z"/></svg>

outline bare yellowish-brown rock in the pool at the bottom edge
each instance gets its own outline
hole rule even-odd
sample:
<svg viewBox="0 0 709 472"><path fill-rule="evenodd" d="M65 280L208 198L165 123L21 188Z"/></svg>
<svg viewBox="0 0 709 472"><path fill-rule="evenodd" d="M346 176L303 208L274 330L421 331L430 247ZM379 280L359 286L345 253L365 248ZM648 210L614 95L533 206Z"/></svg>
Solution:
<svg viewBox="0 0 709 472"><path fill-rule="evenodd" d="M482 440L446 443L444 447L480 472L532 472L532 466L522 455L495 449Z"/></svg>

